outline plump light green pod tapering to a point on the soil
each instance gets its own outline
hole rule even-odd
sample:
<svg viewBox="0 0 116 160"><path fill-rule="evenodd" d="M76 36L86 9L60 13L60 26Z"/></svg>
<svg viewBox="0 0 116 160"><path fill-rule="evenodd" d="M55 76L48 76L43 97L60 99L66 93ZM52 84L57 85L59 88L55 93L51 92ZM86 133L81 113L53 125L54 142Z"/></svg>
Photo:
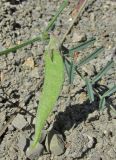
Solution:
<svg viewBox="0 0 116 160"><path fill-rule="evenodd" d="M53 35L50 37L49 45L44 53L44 63L45 77L36 114L35 137L32 148L36 146L41 138L41 131L55 106L64 81L64 64L57 39Z"/></svg>

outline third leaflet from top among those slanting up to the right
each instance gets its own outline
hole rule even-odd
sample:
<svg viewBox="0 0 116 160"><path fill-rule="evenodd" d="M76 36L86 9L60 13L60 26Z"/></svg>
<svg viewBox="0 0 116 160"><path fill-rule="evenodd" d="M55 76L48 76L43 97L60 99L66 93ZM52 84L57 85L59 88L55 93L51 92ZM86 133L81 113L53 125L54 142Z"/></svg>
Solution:
<svg viewBox="0 0 116 160"><path fill-rule="evenodd" d="M113 67L113 64L113 61L108 62L107 65L92 79L92 84L97 82L104 74L106 74L109 69Z"/></svg>

